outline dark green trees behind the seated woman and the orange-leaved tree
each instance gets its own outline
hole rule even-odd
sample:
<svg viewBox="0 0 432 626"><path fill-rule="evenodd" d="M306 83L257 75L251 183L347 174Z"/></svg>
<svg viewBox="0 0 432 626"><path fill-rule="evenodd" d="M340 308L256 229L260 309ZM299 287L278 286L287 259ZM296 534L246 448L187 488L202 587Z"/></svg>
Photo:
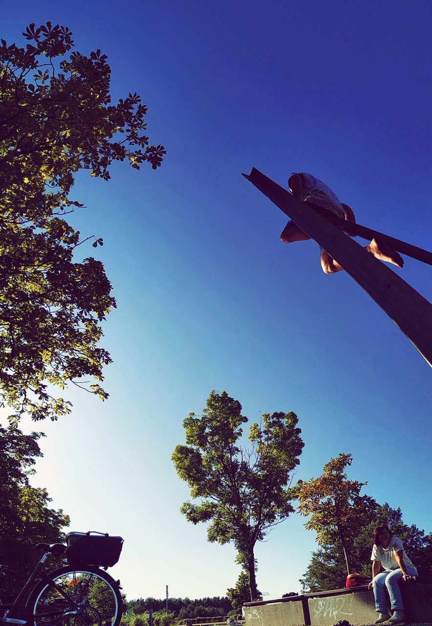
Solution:
<svg viewBox="0 0 432 626"><path fill-rule="evenodd" d="M389 526L392 533L403 541L404 548L421 578L432 575L432 533L426 535L417 526L408 526L402 521L400 508L393 509L388 503L378 505L374 520L364 526L351 545L351 556L356 563L356 570L371 575L371 552L373 528L379 524ZM300 582L303 592L318 592L337 589L344 586L344 555L340 541L323 545L313 552L306 573Z"/></svg>

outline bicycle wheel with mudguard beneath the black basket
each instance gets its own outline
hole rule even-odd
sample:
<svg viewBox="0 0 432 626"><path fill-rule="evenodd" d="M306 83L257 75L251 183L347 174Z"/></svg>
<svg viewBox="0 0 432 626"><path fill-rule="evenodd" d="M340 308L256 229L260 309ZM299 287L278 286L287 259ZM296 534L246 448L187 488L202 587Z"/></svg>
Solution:
<svg viewBox="0 0 432 626"><path fill-rule="evenodd" d="M118 582L97 567L62 567L41 580L27 602L29 626L118 626Z"/></svg>

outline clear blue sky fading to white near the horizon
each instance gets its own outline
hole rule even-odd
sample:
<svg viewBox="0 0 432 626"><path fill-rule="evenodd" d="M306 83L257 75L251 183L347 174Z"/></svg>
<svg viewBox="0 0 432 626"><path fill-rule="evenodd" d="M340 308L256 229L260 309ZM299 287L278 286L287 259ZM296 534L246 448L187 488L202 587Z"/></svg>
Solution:
<svg viewBox="0 0 432 626"><path fill-rule="evenodd" d="M128 598L223 595L234 549L206 543L179 513L170 461L182 420L226 390L252 421L295 411L298 478L339 452L366 493L430 531L431 370L344 272L324 275L313 242L279 242L285 219L243 177L285 185L311 172L358 222L432 249L429 28L425 1L3 1L1 36L66 24L101 48L114 97L138 91L157 172L80 176L74 225L103 237L118 309L104 327L109 401L72 390L74 411L37 424L48 437L34 483L72 530L124 536L113 573ZM428 56L429 55L429 56ZM365 242L366 244L366 242ZM393 268L432 300L432 268ZM31 424L24 423L24 428ZM258 586L298 591L314 549L292 516L256 549Z"/></svg>

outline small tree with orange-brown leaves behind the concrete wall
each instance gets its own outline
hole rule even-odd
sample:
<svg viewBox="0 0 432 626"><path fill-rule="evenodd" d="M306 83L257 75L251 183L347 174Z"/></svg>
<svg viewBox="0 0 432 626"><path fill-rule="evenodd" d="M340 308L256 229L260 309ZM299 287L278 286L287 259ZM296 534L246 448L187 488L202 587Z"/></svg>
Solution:
<svg viewBox="0 0 432 626"><path fill-rule="evenodd" d="M323 475L307 482L299 481L299 512L311 515L305 526L317 534L318 545L340 542L346 570L352 572L348 546L359 531L374 518L376 502L360 495L367 483L348 480L344 472L352 463L351 454L340 453L324 465Z"/></svg>

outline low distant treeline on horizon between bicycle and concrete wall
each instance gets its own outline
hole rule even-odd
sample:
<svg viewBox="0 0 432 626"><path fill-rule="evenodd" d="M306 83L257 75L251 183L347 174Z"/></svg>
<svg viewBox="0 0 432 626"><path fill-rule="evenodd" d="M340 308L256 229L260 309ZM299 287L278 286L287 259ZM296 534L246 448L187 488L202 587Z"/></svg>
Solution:
<svg viewBox="0 0 432 626"><path fill-rule="evenodd" d="M126 600L126 611L135 615L142 615L148 610L154 612L164 610L166 608L166 600L157 600L156 598L138 598L138 600ZM215 617L220 615L224 617L233 610L233 606L228 597L220 598L199 598L199 600L190 600L189 598L168 598L168 611L174 613L176 617L194 618L194 617Z"/></svg>

